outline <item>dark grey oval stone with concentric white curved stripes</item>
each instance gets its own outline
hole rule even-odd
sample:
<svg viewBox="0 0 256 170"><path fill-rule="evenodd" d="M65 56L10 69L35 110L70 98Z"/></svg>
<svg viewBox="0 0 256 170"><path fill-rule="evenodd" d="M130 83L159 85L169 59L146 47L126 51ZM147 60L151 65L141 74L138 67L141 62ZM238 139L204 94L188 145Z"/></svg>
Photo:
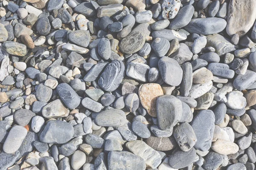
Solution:
<svg viewBox="0 0 256 170"><path fill-rule="evenodd" d="M120 60L112 61L99 77L99 86L105 91L114 91L122 82L125 65Z"/></svg>

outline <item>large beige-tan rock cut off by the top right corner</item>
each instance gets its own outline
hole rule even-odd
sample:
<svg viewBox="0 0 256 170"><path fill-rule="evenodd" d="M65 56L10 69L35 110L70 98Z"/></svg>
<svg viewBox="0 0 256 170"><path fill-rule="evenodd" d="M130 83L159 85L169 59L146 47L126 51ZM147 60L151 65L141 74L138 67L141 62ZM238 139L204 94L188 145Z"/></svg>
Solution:
<svg viewBox="0 0 256 170"><path fill-rule="evenodd" d="M254 10L256 2L253 0L232 0L228 6L227 13L227 34L239 34L242 37L246 34L256 19L256 11ZM241 21L241 22L237 22Z"/></svg>

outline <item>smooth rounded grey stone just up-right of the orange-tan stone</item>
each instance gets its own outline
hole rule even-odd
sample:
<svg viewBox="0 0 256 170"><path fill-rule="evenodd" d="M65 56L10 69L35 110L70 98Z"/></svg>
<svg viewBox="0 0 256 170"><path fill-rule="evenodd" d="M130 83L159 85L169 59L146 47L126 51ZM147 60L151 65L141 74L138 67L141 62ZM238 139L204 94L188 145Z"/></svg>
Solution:
<svg viewBox="0 0 256 170"><path fill-rule="evenodd" d="M183 71L179 63L172 58L162 57L158 62L161 77L168 85L178 86L182 81ZM175 74L173 74L175 73Z"/></svg>

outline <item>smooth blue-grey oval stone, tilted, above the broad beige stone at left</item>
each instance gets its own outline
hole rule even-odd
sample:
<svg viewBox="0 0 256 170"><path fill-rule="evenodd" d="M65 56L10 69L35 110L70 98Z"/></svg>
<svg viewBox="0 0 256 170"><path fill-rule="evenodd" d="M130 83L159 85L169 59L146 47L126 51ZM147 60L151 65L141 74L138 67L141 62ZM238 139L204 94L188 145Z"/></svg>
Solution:
<svg viewBox="0 0 256 170"><path fill-rule="evenodd" d="M80 104L80 97L67 83L59 84L56 90L67 108L74 109Z"/></svg>

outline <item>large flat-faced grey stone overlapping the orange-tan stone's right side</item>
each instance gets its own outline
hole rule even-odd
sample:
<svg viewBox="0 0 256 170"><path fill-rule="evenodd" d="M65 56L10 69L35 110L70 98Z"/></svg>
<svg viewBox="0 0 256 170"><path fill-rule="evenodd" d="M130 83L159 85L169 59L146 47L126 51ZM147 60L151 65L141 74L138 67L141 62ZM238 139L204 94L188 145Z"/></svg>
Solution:
<svg viewBox="0 0 256 170"><path fill-rule="evenodd" d="M163 95L157 98L158 126L162 130L174 127L182 116L182 103L172 95Z"/></svg>

